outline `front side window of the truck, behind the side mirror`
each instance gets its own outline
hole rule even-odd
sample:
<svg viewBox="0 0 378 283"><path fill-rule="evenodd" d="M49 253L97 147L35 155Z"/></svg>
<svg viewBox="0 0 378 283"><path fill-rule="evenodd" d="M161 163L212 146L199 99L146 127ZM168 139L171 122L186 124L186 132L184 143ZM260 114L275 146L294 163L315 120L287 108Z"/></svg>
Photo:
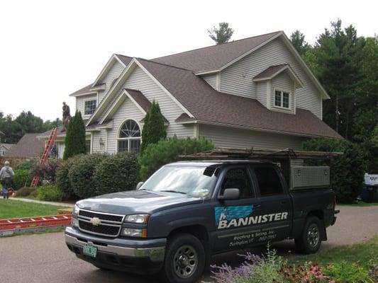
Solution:
<svg viewBox="0 0 378 283"><path fill-rule="evenodd" d="M233 168L227 171L222 183L221 195L226 189L239 189L240 198L253 197L250 177L245 168Z"/></svg>

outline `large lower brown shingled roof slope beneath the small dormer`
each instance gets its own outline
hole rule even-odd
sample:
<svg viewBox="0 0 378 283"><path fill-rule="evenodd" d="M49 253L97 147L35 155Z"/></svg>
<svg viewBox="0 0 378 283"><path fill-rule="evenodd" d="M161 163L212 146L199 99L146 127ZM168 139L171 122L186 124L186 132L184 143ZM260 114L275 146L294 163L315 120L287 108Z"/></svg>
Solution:
<svg viewBox="0 0 378 283"><path fill-rule="evenodd" d="M214 90L192 71L145 59L138 60L201 122L340 138L338 133L309 110L297 108L296 115L268 110L255 99ZM183 117L179 120L183 120Z"/></svg>

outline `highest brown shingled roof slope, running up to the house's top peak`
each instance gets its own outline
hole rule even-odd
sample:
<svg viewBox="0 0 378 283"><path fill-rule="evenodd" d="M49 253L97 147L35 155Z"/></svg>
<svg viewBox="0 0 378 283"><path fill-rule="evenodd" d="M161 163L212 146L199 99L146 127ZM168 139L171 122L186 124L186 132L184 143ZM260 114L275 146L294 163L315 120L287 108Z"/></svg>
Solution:
<svg viewBox="0 0 378 283"><path fill-rule="evenodd" d="M243 40L224 43L222 45L213 45L165 57L159 57L152 59L152 61L189 69L196 73L216 70L233 61L233 59L238 58L253 48L261 45L263 42L269 40L278 33L280 32L257 35Z"/></svg>

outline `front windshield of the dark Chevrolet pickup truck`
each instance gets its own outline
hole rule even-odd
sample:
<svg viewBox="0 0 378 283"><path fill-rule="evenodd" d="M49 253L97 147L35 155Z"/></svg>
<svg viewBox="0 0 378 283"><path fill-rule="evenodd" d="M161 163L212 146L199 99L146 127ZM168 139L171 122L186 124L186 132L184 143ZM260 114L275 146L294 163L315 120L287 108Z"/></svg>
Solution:
<svg viewBox="0 0 378 283"><path fill-rule="evenodd" d="M206 197L216 183L216 176L205 166L163 166L140 190L177 192L192 197Z"/></svg>

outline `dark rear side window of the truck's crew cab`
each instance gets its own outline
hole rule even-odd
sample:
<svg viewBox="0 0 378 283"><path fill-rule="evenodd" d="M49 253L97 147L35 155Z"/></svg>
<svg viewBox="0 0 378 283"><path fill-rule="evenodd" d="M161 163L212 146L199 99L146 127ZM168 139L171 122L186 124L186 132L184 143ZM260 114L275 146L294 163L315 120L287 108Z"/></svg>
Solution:
<svg viewBox="0 0 378 283"><path fill-rule="evenodd" d="M284 192L281 180L277 171L272 167L255 167L257 183L260 187L260 194L280 195Z"/></svg>

